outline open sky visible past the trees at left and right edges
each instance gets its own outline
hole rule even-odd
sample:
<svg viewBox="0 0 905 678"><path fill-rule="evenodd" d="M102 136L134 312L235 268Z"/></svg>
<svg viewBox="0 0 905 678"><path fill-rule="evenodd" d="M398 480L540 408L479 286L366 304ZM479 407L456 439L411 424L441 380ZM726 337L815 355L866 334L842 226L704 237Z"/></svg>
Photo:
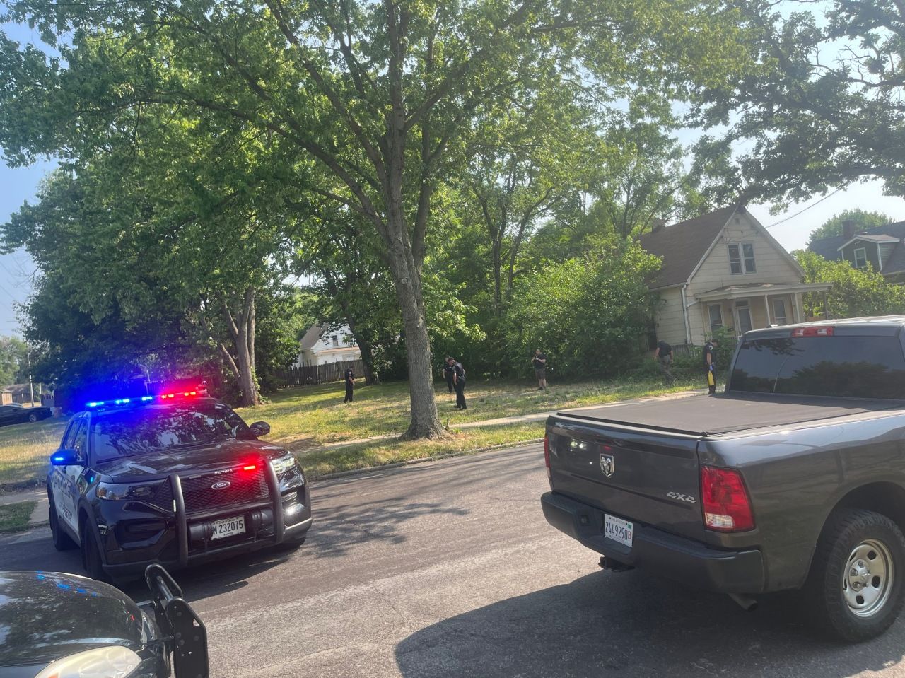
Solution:
<svg viewBox="0 0 905 678"><path fill-rule="evenodd" d="M37 34L27 26L5 24L3 29L20 43L39 42ZM0 160L0 223L5 223L24 201L33 201L39 182L52 167L50 161L31 167L6 167ZM882 212L896 221L905 220L905 200L883 196L882 186L877 181L850 186L829 197L814 196L779 215L771 215L769 205L748 205L757 220L767 226L776 240L790 251L803 247L807 234L827 219L853 208ZM792 218L784 221L789 216ZM777 224L780 221L783 223ZM28 253L0 255L0 335L18 333L14 303L25 301L28 297L32 290L33 273L34 264Z"/></svg>

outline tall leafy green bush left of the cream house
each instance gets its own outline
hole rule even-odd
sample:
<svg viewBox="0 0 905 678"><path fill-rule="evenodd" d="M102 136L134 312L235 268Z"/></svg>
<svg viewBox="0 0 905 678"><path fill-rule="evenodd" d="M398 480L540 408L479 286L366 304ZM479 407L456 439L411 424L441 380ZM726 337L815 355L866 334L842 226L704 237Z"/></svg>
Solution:
<svg viewBox="0 0 905 678"><path fill-rule="evenodd" d="M519 281L504 332L515 375L535 349L557 377L606 377L632 367L653 314L644 282L660 260L637 244L607 246Z"/></svg>

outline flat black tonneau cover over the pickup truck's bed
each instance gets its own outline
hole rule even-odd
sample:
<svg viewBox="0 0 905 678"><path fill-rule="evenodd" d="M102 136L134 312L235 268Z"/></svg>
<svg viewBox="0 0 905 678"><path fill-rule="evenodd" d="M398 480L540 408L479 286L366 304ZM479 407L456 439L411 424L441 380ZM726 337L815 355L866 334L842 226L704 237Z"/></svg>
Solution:
<svg viewBox="0 0 905 678"><path fill-rule="evenodd" d="M902 408L905 400L735 393L585 407L558 414L608 424L712 435Z"/></svg>

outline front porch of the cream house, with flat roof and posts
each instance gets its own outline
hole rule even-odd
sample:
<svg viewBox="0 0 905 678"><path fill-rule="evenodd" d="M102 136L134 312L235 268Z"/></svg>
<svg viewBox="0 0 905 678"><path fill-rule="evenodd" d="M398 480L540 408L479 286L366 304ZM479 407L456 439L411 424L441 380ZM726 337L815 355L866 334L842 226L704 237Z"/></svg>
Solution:
<svg viewBox="0 0 905 678"><path fill-rule="evenodd" d="M699 307L698 331L692 329L692 342L703 343L719 328L729 328L741 336L749 329L775 325L791 325L811 320L805 318L802 294L818 292L825 295L829 283L771 284L754 283L732 285L702 292L695 296ZM691 309L690 309L691 310ZM690 314L691 315L691 314Z"/></svg>

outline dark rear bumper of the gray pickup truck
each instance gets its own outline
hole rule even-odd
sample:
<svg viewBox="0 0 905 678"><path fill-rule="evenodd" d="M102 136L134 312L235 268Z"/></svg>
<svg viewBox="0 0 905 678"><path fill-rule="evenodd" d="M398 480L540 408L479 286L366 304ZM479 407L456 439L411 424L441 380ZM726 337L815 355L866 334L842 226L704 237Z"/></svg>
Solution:
<svg viewBox="0 0 905 678"><path fill-rule="evenodd" d="M717 593L764 590L764 561L757 549L711 549L637 521L632 546L627 547L604 538L604 511L556 492L545 492L540 503L550 525L606 558Z"/></svg>

